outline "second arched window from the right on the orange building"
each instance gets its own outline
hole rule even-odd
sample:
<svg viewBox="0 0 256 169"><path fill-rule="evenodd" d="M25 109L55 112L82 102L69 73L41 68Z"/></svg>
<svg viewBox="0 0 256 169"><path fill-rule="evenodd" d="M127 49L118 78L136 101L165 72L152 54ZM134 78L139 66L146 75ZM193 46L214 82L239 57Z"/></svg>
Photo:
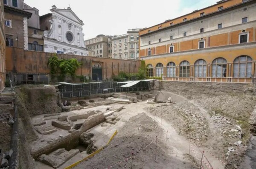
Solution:
<svg viewBox="0 0 256 169"><path fill-rule="evenodd" d="M227 77L227 60L219 57L212 62L212 77Z"/></svg>

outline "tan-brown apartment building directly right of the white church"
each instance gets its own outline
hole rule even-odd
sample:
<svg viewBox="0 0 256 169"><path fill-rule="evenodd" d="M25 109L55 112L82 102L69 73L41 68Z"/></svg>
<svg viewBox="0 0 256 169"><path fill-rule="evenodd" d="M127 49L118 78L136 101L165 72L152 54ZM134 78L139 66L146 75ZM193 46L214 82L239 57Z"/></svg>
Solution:
<svg viewBox="0 0 256 169"><path fill-rule="evenodd" d="M93 56L104 58L108 58L109 54L111 54L111 43L109 45L109 42L111 42L111 36L105 36L102 34L84 41L87 49L93 51Z"/></svg>

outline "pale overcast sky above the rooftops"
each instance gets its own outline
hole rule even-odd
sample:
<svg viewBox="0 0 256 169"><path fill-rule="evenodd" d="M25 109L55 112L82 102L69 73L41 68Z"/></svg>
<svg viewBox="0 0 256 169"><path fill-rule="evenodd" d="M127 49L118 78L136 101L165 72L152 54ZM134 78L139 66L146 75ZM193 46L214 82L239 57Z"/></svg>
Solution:
<svg viewBox="0 0 256 169"><path fill-rule="evenodd" d="M205 8L219 0L24 0L39 9L39 15L50 13L52 5L67 8L83 20L84 40L99 34L121 35L128 29L146 28L165 20Z"/></svg>

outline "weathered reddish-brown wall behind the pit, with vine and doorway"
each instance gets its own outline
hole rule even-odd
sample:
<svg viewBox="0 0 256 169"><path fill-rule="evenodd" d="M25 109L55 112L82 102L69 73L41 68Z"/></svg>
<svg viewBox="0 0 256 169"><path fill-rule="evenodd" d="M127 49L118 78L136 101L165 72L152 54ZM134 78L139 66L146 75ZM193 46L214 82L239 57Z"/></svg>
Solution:
<svg viewBox="0 0 256 169"><path fill-rule="evenodd" d="M22 48L6 48L6 70L15 73L49 73L47 62L53 53L24 51ZM82 62L82 67L76 72L78 76L92 77L92 65L99 62L102 65L103 79L110 79L113 74L120 71L137 73L140 61L127 61L121 59L96 58L90 56L77 56L57 54L58 58L76 58Z"/></svg>

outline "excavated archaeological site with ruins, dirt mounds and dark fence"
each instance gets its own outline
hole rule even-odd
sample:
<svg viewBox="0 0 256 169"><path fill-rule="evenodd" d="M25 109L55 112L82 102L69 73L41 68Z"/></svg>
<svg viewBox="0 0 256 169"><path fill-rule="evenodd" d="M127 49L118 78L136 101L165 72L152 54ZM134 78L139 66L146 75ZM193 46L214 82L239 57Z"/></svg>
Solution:
<svg viewBox="0 0 256 169"><path fill-rule="evenodd" d="M0 168L255 169L255 94L158 80L15 86L0 98Z"/></svg>

